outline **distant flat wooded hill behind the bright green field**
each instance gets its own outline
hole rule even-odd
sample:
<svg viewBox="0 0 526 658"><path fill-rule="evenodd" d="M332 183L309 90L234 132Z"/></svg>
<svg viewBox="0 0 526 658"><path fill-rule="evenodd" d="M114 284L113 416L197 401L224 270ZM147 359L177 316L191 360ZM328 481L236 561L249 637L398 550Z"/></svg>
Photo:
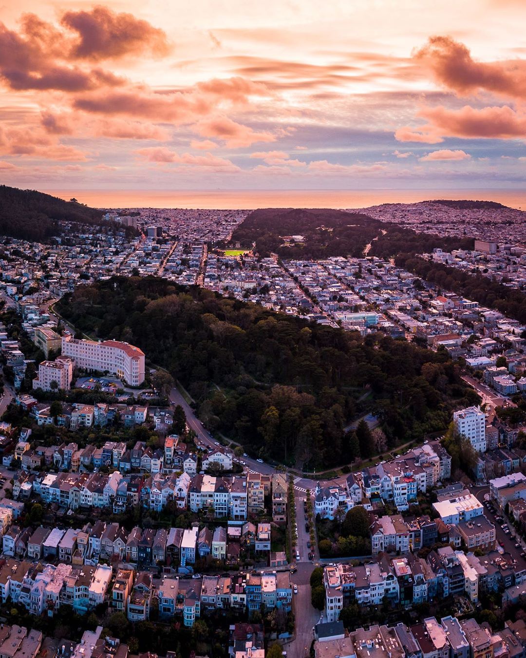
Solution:
<svg viewBox="0 0 526 658"><path fill-rule="evenodd" d="M363 213L331 209L256 210L232 236L232 241L239 241L243 247L255 243L256 251L262 256L274 252L283 259L360 257L372 240L369 255L383 258L432 251L434 247L441 247L444 251L473 249L473 238L417 233Z"/></svg>

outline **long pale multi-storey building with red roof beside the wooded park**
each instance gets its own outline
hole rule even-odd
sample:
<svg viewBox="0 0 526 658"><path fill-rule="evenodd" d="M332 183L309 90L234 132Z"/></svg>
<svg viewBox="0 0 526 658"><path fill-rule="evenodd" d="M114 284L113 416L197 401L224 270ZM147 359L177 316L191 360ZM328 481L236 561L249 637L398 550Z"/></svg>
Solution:
<svg viewBox="0 0 526 658"><path fill-rule="evenodd" d="M78 368L109 372L130 386L139 386L145 377L144 352L117 340L78 340L62 336L62 355L72 357Z"/></svg>

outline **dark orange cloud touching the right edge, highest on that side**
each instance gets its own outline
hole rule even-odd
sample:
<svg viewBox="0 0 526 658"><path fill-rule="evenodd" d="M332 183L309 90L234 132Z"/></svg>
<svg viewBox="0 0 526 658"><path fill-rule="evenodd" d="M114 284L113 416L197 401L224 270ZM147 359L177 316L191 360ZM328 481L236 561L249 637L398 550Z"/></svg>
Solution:
<svg viewBox="0 0 526 658"><path fill-rule="evenodd" d="M448 36L431 37L415 57L435 79L459 95L485 90L509 98L526 97L526 62L477 62L469 49Z"/></svg>

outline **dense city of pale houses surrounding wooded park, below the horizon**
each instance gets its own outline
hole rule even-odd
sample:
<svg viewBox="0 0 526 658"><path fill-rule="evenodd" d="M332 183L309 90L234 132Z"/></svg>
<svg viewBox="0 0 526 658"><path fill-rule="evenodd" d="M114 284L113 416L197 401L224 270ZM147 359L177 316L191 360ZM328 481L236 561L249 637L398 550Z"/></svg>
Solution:
<svg viewBox="0 0 526 658"><path fill-rule="evenodd" d="M361 209L346 255L356 211L3 238L0 658L525 658L521 299L429 270L525 294L477 203Z"/></svg>

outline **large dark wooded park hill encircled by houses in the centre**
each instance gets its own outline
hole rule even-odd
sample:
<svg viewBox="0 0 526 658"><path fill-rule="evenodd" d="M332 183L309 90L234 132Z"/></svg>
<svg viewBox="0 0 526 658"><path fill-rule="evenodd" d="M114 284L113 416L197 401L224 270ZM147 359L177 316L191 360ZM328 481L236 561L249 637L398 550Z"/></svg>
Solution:
<svg viewBox="0 0 526 658"><path fill-rule="evenodd" d="M444 351L384 334L364 339L155 277L79 286L58 310L93 336L141 347L183 382L210 429L289 463L375 453L381 436L375 444L343 432L368 411L394 446L444 430L453 409L478 401Z"/></svg>

